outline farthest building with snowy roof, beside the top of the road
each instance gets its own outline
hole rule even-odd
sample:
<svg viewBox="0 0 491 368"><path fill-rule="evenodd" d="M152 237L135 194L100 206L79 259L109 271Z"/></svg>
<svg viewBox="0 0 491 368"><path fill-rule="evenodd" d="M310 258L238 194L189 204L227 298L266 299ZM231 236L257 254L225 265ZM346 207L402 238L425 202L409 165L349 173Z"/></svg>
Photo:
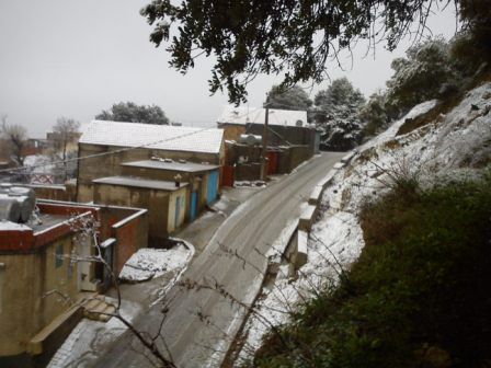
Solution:
<svg viewBox="0 0 491 368"><path fill-rule="evenodd" d="M224 183L261 176L261 145L265 108L228 105L217 119L225 130ZM269 110L267 174L289 173L319 152L320 133L307 122L306 111Z"/></svg>

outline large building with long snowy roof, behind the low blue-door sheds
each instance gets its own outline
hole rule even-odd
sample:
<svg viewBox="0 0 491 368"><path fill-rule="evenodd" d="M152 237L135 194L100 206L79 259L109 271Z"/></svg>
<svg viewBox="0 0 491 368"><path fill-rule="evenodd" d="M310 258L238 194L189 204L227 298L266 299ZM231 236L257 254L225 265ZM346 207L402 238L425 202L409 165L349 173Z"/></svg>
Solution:
<svg viewBox="0 0 491 368"><path fill-rule="evenodd" d="M77 200L91 202L92 181L122 175L125 162L159 157L221 165L222 138L224 130L216 128L94 120L79 141Z"/></svg>

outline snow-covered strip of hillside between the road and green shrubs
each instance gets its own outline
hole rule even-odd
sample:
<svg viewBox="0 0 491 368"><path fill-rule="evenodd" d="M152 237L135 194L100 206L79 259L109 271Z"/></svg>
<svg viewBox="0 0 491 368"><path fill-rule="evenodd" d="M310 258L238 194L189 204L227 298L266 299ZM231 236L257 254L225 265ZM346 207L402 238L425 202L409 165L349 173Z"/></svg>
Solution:
<svg viewBox="0 0 491 368"><path fill-rule="evenodd" d="M361 207L388 192L398 177L415 179L422 186L431 186L436 180L472 176L477 169L489 163L491 83L467 93L448 114L439 114L436 120L397 136L404 124L424 117L434 108L438 108L437 101L415 106L385 133L359 147L351 163L335 174L323 195L324 211L309 237L308 263L296 280L288 279L285 267L276 285L260 301L259 312L267 321L274 325L284 323L296 304L336 283L342 268L354 262L364 246L358 220ZM267 327L260 319L250 319L241 358L247 359L260 346Z"/></svg>

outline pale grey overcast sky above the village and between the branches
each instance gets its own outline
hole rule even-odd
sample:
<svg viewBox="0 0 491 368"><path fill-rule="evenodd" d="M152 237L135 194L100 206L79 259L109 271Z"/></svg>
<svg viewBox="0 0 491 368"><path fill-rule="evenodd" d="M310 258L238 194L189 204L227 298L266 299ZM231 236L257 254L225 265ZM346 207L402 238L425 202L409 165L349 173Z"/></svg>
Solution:
<svg viewBox="0 0 491 368"><path fill-rule="evenodd" d="M90 122L113 103L157 104L173 122L214 125L227 96L209 96L212 62L198 59L181 76L168 67L163 47L148 41L151 27L139 15L150 0L0 0L0 115L20 124L32 137L45 137L58 116ZM446 38L455 32L454 10L432 16L430 27ZM390 61L402 56L406 41L376 58L355 49L354 66L328 66L331 78L346 76L368 96L391 76ZM351 61L346 59L345 69ZM249 88L249 105L261 106L279 77L258 78ZM323 85L316 87L311 97Z"/></svg>

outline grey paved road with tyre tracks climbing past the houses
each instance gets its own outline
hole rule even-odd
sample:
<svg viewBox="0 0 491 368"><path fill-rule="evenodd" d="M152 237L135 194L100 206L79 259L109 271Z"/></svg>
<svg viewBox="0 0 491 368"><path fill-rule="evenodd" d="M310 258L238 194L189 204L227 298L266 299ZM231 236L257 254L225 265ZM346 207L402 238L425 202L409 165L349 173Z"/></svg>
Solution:
<svg viewBox="0 0 491 368"><path fill-rule="evenodd" d="M263 275L258 269L265 271L267 265L256 250L264 254L270 249L285 226L300 215L300 205L312 187L342 156L322 153L247 200L218 229L183 279L206 285L217 283L238 300L251 302L262 283ZM220 244L247 258L247 264L228 255ZM174 287L165 299L169 302L165 318L162 319L162 304L157 304L135 322L138 330L157 334L161 329L179 368L218 367L229 344L224 335L237 333L244 311L219 292L203 288ZM126 333L98 360L96 367L151 367L139 353L141 349Z"/></svg>

